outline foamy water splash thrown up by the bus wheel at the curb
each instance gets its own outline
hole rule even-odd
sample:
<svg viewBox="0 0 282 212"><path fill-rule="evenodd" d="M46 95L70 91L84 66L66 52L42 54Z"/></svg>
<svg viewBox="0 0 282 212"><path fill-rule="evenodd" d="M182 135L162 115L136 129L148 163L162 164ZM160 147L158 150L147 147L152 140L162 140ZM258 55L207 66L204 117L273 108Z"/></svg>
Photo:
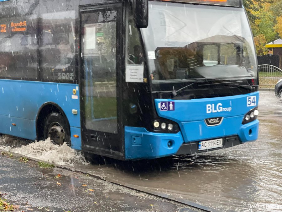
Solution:
<svg viewBox="0 0 282 212"><path fill-rule="evenodd" d="M61 146L55 145L50 141L50 138L30 143L25 139L2 135L0 149L58 165L88 164L81 152L71 149L66 143Z"/></svg>

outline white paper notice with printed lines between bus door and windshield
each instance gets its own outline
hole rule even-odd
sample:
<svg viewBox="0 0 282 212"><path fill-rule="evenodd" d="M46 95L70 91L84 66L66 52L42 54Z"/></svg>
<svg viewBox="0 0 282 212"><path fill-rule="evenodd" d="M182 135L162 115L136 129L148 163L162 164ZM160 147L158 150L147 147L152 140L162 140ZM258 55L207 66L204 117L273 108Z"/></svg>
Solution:
<svg viewBox="0 0 282 212"><path fill-rule="evenodd" d="M125 81L126 82L143 82L144 65L126 65Z"/></svg>

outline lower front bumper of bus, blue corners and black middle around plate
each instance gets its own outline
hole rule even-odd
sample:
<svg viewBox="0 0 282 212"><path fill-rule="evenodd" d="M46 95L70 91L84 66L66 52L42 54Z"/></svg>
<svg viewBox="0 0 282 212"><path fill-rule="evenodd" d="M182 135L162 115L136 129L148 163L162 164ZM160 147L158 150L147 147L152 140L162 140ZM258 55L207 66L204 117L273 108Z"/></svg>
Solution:
<svg viewBox="0 0 282 212"><path fill-rule="evenodd" d="M125 126L125 159L140 160L154 159L175 154L194 154L217 149L232 147L245 142L255 141L258 137L259 121L241 125L238 134L224 137L223 146L214 149L198 150L199 141L184 142L181 132L178 133L153 133L145 128Z"/></svg>

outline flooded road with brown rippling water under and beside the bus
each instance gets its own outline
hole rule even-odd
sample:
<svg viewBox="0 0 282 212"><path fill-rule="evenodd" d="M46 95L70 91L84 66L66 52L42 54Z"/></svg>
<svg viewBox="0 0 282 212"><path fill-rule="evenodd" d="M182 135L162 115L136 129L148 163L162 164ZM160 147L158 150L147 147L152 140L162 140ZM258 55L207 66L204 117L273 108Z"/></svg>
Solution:
<svg viewBox="0 0 282 212"><path fill-rule="evenodd" d="M72 153L74 162L65 165L222 211L249 211L248 204L282 205L282 101L274 92L261 91L259 111L256 142L198 155L142 161L101 159L91 165L79 153ZM21 153L27 147L18 148ZM26 149L21 154L33 157L35 152L30 155ZM54 162L64 162L64 157L67 154Z"/></svg>

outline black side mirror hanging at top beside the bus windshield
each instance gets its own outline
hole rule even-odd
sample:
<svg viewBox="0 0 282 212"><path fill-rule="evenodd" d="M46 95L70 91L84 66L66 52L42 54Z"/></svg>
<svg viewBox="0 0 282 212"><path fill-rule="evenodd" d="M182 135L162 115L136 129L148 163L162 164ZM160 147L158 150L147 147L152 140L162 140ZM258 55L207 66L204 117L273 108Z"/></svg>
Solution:
<svg viewBox="0 0 282 212"><path fill-rule="evenodd" d="M135 0L135 24L137 28L148 26L148 0Z"/></svg>

